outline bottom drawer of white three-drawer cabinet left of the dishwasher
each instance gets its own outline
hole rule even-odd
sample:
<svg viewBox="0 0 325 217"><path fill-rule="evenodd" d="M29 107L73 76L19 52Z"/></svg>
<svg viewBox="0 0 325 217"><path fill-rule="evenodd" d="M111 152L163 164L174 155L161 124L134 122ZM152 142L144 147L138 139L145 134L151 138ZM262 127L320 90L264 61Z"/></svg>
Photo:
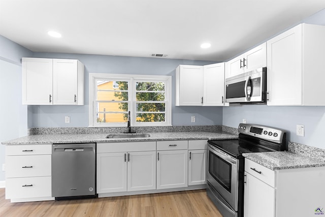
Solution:
<svg viewBox="0 0 325 217"><path fill-rule="evenodd" d="M51 197L51 176L6 178L6 199Z"/></svg>

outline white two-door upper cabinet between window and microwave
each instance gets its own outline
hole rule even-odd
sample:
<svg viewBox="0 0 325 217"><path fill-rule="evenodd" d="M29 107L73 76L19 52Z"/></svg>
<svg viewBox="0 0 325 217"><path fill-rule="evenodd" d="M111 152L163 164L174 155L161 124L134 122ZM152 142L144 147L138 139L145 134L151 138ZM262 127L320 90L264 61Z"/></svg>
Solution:
<svg viewBox="0 0 325 217"><path fill-rule="evenodd" d="M223 106L224 63L176 68L176 106Z"/></svg>

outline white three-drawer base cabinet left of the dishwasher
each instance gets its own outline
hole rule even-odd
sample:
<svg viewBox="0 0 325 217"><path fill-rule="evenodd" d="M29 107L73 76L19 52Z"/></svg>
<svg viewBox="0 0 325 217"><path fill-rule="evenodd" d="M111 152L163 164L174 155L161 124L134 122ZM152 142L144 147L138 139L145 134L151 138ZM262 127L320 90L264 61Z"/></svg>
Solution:
<svg viewBox="0 0 325 217"><path fill-rule="evenodd" d="M51 144L6 146L6 199L11 202L51 197Z"/></svg>

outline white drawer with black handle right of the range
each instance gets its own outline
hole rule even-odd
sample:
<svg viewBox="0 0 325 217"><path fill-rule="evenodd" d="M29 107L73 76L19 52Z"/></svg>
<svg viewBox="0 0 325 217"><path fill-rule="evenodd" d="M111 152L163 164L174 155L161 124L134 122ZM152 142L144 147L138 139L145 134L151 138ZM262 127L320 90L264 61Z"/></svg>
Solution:
<svg viewBox="0 0 325 217"><path fill-rule="evenodd" d="M245 171L275 188L275 171L245 159Z"/></svg>

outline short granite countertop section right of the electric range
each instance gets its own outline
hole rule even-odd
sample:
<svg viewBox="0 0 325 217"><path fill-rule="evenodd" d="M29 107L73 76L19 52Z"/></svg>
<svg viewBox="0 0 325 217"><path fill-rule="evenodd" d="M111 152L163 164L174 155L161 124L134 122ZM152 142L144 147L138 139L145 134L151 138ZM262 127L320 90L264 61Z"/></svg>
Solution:
<svg viewBox="0 0 325 217"><path fill-rule="evenodd" d="M243 153L243 156L271 170L325 166L325 161L290 151Z"/></svg>

